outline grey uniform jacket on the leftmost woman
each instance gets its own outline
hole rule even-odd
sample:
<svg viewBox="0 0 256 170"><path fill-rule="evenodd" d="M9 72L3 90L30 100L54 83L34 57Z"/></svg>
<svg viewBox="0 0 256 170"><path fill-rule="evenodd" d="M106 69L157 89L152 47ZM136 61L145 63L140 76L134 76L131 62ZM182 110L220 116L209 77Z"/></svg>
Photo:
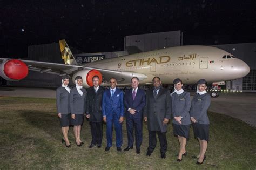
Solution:
<svg viewBox="0 0 256 170"><path fill-rule="evenodd" d="M65 87L59 87L56 90L56 105L57 113L69 114L70 113L70 94Z"/></svg>

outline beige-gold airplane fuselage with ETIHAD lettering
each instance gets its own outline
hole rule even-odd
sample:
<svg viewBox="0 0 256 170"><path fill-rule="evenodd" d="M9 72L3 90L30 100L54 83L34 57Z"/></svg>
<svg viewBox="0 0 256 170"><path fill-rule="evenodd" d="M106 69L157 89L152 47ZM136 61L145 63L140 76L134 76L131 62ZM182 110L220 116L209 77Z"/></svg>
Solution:
<svg viewBox="0 0 256 170"><path fill-rule="evenodd" d="M223 58L225 55L232 56L216 47L189 45L104 59L85 65L143 73L148 78L142 80L140 85L151 83L154 76L160 77L163 84L172 84L176 78L185 84L195 84L201 78L213 83L238 79L250 72L245 62L233 56Z"/></svg>

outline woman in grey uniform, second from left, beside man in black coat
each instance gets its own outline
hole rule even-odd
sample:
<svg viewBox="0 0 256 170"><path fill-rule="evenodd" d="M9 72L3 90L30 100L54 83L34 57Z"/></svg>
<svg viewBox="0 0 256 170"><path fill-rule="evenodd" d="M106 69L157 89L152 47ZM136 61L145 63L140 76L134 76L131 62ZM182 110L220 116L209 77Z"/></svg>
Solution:
<svg viewBox="0 0 256 170"><path fill-rule="evenodd" d="M86 90L83 88L83 79L81 76L75 78L76 87L70 91L70 110L71 110L71 125L74 126L74 134L77 146L84 144L80 139L81 125L84 121L86 111L85 99Z"/></svg>

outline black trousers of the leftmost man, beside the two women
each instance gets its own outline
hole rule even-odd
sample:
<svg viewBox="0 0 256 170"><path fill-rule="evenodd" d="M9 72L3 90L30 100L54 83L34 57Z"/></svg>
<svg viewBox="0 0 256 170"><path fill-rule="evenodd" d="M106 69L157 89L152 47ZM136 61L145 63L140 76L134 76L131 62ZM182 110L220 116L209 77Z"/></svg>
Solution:
<svg viewBox="0 0 256 170"><path fill-rule="evenodd" d="M91 144L95 144L96 143L98 145L102 144L102 125L103 122L90 122L91 125L91 135L92 135L92 141Z"/></svg>

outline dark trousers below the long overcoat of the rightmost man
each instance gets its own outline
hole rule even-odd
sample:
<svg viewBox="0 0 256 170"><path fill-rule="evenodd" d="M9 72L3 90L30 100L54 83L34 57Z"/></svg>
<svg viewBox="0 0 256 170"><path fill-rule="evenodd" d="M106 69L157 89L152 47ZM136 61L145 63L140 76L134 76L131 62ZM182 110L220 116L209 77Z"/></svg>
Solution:
<svg viewBox="0 0 256 170"><path fill-rule="evenodd" d="M157 145L156 133L158 135L158 139L160 142L160 152L165 153L167 150L166 132L161 133L159 131L150 131L149 130L149 147L147 148L147 150L150 152L154 151L154 148Z"/></svg>

